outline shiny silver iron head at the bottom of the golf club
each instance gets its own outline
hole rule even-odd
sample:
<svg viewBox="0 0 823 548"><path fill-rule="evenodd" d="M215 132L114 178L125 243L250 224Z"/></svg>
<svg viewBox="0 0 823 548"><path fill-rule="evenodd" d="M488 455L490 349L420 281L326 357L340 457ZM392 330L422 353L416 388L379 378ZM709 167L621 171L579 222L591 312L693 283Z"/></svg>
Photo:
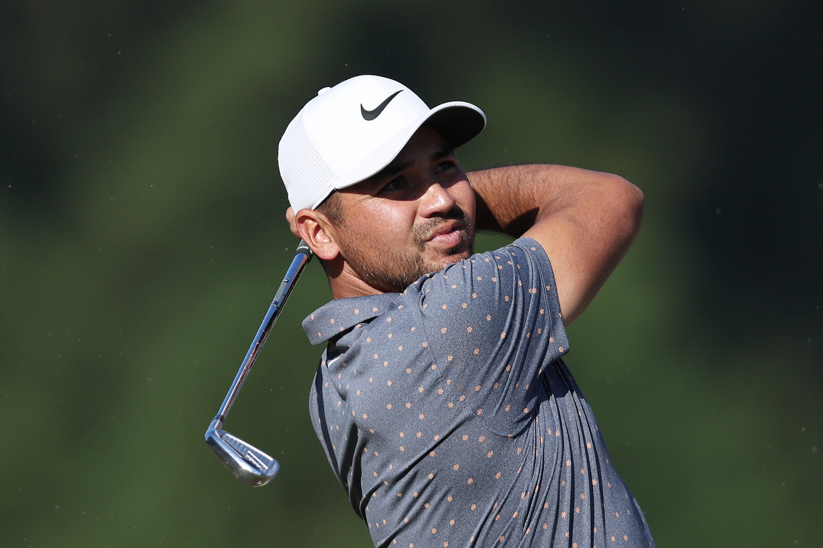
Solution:
<svg viewBox="0 0 823 548"><path fill-rule="evenodd" d="M226 430L209 428L206 432L206 443L244 485L266 485L280 470L280 463L274 457L245 443Z"/></svg>

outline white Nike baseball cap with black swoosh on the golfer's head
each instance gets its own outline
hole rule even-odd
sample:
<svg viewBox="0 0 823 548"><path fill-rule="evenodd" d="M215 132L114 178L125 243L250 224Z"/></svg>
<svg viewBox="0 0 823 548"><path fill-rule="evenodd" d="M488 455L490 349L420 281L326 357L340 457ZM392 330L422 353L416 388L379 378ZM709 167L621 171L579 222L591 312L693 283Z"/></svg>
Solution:
<svg viewBox="0 0 823 548"><path fill-rule="evenodd" d="M486 114L463 101L429 109L406 86L378 76L323 88L291 120L277 150L291 207L314 209L332 191L368 179L424 124L457 147L481 132Z"/></svg>

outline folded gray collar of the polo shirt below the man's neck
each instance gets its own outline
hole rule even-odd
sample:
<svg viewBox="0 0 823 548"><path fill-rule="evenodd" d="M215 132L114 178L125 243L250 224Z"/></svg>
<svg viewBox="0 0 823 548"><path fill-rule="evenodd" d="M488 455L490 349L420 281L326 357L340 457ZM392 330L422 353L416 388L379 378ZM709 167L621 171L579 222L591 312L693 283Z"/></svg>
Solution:
<svg viewBox="0 0 823 548"><path fill-rule="evenodd" d="M335 335L368 322L385 313L400 296L399 293L381 293L363 297L332 300L310 313L303 320L303 329L309 341L318 345Z"/></svg>

